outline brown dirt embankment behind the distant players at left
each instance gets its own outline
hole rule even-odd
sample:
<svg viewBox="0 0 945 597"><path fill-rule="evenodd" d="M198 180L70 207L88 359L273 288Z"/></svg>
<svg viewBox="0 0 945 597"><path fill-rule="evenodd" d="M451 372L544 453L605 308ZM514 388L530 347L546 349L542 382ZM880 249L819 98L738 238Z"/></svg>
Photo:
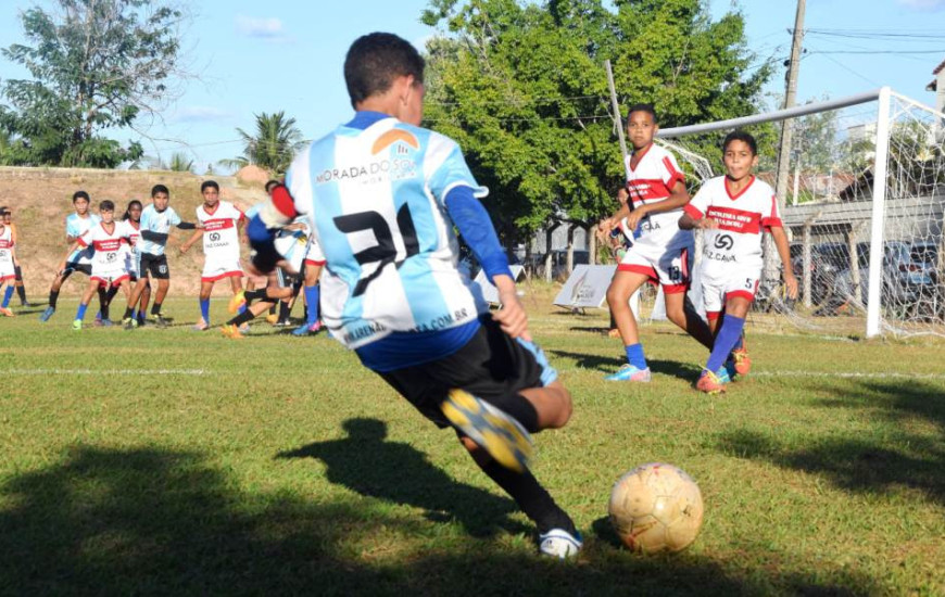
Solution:
<svg viewBox="0 0 945 597"><path fill-rule="evenodd" d="M265 198L262 185L247 187L226 176L198 176L188 173L144 170L94 170L73 168L16 168L0 167L0 205L13 209L13 223L20 236L16 254L23 267L27 294L33 302L42 302L55 267L65 256L65 218L73 213L72 194L84 190L92 199L91 211L98 213L100 201L115 203L116 216L125 212L133 199L148 205L151 187L165 185L171 190L171 205L186 221L196 221L194 209L201 203L200 183L216 180L222 199L245 208ZM180 255L177 247L190 231L176 230L168 242L173 295L197 294L203 254L200 243L188 254ZM244 251L245 253L245 251ZM76 276L63 287L64 295L78 294L86 278ZM216 284L216 293L229 293L229 284Z"/></svg>

